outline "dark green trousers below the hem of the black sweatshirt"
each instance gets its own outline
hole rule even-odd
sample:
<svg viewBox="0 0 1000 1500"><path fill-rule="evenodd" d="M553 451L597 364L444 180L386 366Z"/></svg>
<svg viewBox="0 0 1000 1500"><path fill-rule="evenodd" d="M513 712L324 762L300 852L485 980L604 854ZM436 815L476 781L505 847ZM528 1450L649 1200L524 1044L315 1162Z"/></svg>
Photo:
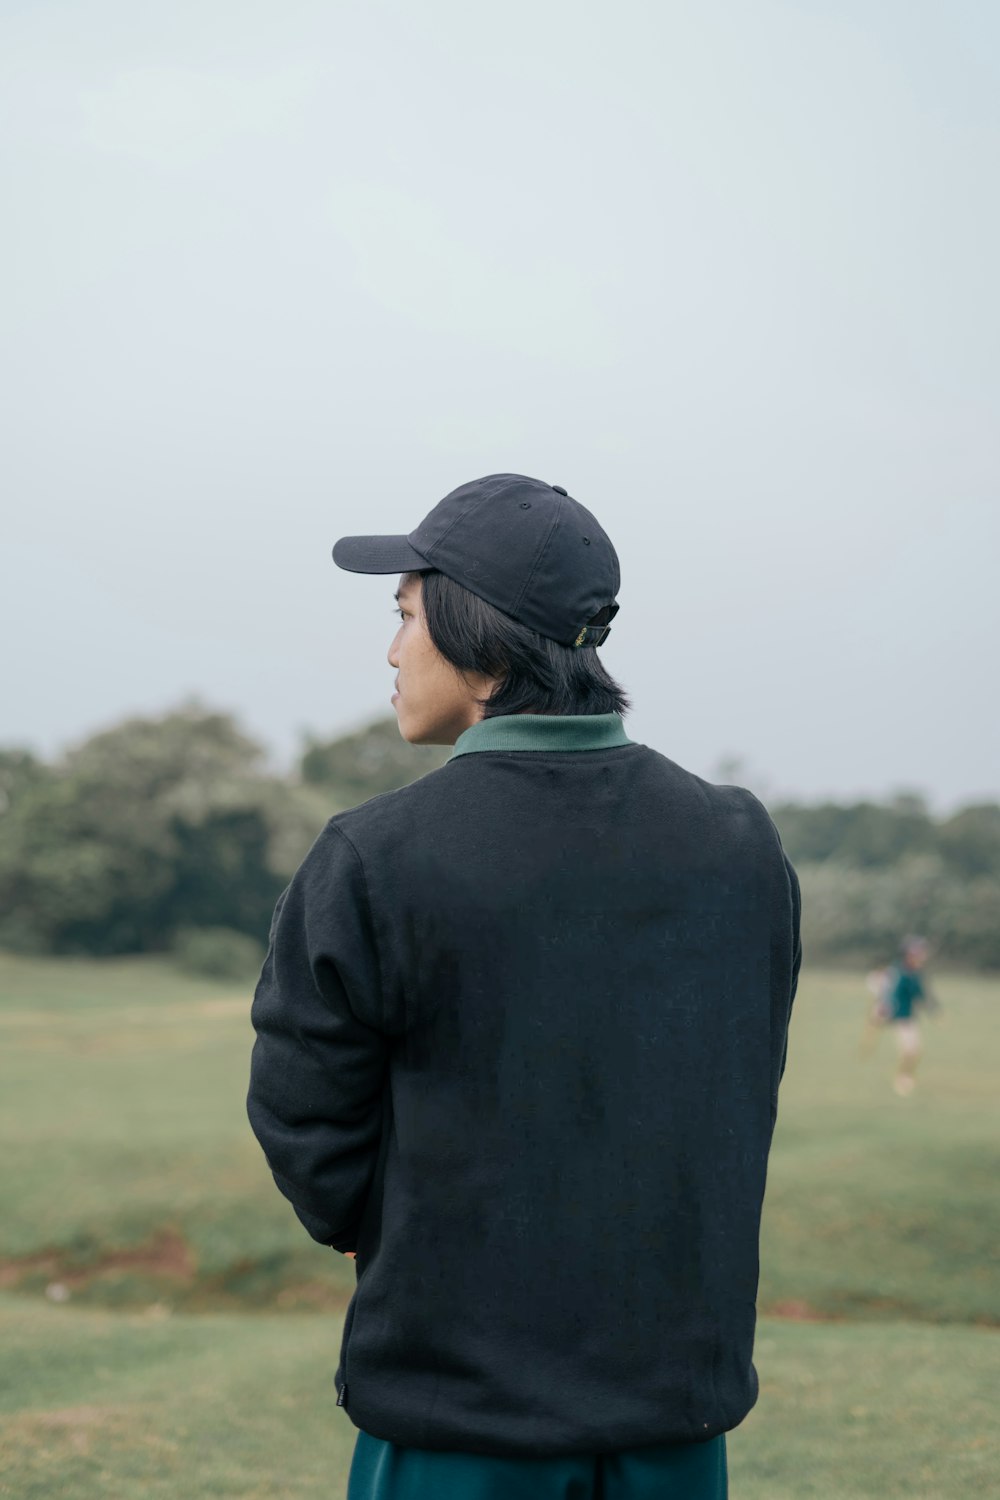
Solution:
<svg viewBox="0 0 1000 1500"><path fill-rule="evenodd" d="M358 1432L348 1500L726 1500L726 1436L594 1458L486 1458Z"/></svg>

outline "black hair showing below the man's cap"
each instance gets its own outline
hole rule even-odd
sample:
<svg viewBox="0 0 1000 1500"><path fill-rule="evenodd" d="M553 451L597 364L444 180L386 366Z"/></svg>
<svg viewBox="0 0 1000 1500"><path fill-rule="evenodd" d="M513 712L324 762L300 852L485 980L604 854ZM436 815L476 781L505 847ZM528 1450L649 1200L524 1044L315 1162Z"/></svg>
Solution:
<svg viewBox="0 0 1000 1500"><path fill-rule="evenodd" d="M499 678L478 699L484 718L501 714L627 714L631 702L606 672L597 646L564 646L511 620L436 568L421 580L427 634L459 672Z"/></svg>

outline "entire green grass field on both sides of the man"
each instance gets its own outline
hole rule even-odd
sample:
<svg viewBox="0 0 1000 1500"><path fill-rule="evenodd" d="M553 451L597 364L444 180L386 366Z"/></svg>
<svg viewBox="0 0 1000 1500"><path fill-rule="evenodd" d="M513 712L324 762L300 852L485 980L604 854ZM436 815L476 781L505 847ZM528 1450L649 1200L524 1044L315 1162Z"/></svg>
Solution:
<svg viewBox="0 0 1000 1500"><path fill-rule="evenodd" d="M861 978L804 975L733 1500L1000 1494L1000 982L937 990L900 1100ZM0 996L0 1494L336 1500L354 1272L249 1134L247 996L9 957Z"/></svg>

